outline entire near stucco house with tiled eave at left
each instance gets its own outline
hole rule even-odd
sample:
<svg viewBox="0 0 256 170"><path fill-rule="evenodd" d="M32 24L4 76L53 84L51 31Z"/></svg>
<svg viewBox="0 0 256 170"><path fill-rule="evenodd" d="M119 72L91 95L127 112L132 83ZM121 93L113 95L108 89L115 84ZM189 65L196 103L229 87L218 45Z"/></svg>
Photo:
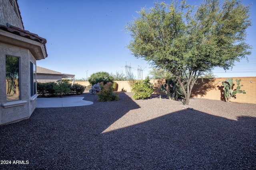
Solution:
<svg viewBox="0 0 256 170"><path fill-rule="evenodd" d="M46 57L46 39L24 30L17 0L0 0L0 125L33 113L36 61Z"/></svg>

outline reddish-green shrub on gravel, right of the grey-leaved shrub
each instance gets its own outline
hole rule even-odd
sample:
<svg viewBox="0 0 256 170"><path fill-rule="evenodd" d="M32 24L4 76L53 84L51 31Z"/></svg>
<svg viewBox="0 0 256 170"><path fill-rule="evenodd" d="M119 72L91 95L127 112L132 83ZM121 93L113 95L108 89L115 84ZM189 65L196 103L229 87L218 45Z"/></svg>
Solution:
<svg viewBox="0 0 256 170"><path fill-rule="evenodd" d="M113 93L113 84L111 82L105 84L97 95L100 102L110 102L119 99L118 93Z"/></svg>

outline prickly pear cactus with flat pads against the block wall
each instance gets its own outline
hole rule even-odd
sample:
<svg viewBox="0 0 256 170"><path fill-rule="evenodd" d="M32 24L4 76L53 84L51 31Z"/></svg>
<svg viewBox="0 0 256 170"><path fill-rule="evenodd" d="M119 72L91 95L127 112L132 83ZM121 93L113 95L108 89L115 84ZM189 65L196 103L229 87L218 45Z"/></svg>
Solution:
<svg viewBox="0 0 256 170"><path fill-rule="evenodd" d="M235 90L233 90L233 78L227 78L226 82L222 82L223 86L224 86L224 96L225 96L225 100L226 102L230 102L230 99L236 99L235 95L237 93L243 93L246 94L246 92L244 90L240 90L240 88L243 86L242 84L240 85L240 80L236 79L236 84L237 87Z"/></svg>

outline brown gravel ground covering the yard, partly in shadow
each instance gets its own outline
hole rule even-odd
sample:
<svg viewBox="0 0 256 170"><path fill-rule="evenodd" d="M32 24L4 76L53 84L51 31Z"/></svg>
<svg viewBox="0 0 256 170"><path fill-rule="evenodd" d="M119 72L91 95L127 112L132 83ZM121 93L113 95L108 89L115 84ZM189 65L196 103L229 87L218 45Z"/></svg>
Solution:
<svg viewBox="0 0 256 170"><path fill-rule="evenodd" d="M256 104L81 96L94 104L37 108L0 126L0 169L256 169Z"/></svg>

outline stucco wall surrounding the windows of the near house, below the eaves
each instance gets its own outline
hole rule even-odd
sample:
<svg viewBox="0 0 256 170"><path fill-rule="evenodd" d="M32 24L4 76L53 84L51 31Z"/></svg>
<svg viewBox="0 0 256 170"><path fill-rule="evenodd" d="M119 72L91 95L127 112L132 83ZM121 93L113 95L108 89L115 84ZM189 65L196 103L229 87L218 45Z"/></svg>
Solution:
<svg viewBox="0 0 256 170"><path fill-rule="evenodd" d="M20 101L25 102L21 106L8 108L3 106L3 104L14 103L13 101L6 101L6 55L20 57ZM26 119L36 108L36 98L32 100L30 97L30 62L36 64L36 59L28 49L0 43L0 124Z"/></svg>

